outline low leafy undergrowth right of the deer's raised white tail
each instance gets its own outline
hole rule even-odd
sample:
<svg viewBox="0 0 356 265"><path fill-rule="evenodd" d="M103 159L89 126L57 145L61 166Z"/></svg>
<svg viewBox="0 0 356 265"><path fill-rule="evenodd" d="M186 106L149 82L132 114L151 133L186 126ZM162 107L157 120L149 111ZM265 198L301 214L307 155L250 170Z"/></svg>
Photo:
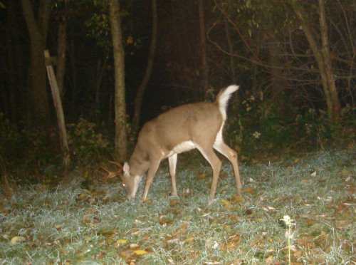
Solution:
<svg viewBox="0 0 356 265"><path fill-rule="evenodd" d="M278 105L249 94L241 103L232 101L226 135L248 159L345 147L355 145L355 111L346 105L335 122L323 110Z"/></svg>

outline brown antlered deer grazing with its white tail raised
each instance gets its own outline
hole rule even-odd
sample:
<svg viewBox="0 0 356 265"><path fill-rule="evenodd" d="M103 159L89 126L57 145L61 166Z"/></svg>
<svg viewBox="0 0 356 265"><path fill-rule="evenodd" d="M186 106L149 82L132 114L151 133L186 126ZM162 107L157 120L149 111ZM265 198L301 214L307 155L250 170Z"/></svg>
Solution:
<svg viewBox="0 0 356 265"><path fill-rule="evenodd" d="M241 194L237 152L224 142L223 128L227 118L226 108L231 94L239 89L238 85L229 85L221 89L215 102L199 102L172 108L143 125L137 137L137 144L128 162L121 167L119 175L125 187L127 199L134 199L143 175L147 172L142 201L156 175L159 163L168 159L169 175L172 180L172 196L177 196L176 167L177 157L182 152L197 149L212 168L210 197L214 199L216 185L221 170L221 160L214 150L226 157L234 169L238 194ZM119 166L118 163L115 165Z"/></svg>

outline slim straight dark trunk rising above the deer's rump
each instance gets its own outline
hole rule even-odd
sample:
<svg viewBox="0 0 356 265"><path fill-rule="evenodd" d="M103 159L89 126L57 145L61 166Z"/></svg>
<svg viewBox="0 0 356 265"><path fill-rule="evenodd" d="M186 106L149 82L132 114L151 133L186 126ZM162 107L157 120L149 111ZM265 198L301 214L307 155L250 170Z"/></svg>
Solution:
<svg viewBox="0 0 356 265"><path fill-rule="evenodd" d="M199 30L200 30L200 48L201 48L201 97L204 98L204 94L208 90L208 63L206 61L206 38L205 38L205 20L204 20L204 3L203 0L199 0Z"/></svg>

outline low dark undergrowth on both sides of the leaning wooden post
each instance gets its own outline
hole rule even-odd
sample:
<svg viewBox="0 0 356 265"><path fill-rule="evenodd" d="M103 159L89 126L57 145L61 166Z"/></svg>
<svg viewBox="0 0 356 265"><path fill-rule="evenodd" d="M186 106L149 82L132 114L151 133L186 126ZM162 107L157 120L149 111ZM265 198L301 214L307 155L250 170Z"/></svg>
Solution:
<svg viewBox="0 0 356 265"><path fill-rule="evenodd" d="M102 133L98 133L98 131ZM104 135L105 126L90 123L80 118L78 123L68 125L68 143L73 166L97 165L103 157L112 154L112 142ZM62 168L61 150L58 146L58 134L36 130L23 123L18 130L4 119L0 113L0 166L10 172L15 180L38 181L36 175L57 175ZM106 159L106 158L105 158ZM32 177L33 175L33 177Z"/></svg>

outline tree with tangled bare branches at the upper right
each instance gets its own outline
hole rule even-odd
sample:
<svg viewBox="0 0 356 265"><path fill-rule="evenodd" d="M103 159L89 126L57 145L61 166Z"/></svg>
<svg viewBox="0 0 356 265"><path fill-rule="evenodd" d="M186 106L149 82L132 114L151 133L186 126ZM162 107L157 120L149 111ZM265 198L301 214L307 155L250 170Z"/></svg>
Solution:
<svg viewBox="0 0 356 265"><path fill-rule="evenodd" d="M265 82L261 87L271 91L272 100L289 88L293 100L298 95L312 108L320 108L324 101L328 116L340 118L340 98L352 99L350 80L355 75L352 1L215 0L215 4L236 31L234 46L239 48L231 53L221 42L211 42L227 55L261 67L259 79Z"/></svg>

